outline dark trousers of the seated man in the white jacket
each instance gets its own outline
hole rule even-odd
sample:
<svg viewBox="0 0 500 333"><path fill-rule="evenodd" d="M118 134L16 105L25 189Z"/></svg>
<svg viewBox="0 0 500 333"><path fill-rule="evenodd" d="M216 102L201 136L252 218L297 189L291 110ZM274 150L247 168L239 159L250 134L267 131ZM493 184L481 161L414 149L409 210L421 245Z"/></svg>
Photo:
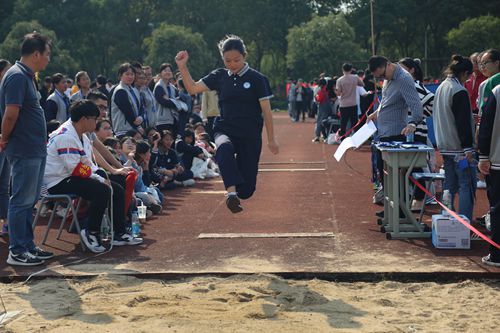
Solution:
<svg viewBox="0 0 500 333"><path fill-rule="evenodd" d="M113 187L113 228L118 234L125 232L125 191L118 183ZM111 189L91 178L68 177L49 189L50 194L75 194L89 201L89 231L100 231L102 217L108 207Z"/></svg>

